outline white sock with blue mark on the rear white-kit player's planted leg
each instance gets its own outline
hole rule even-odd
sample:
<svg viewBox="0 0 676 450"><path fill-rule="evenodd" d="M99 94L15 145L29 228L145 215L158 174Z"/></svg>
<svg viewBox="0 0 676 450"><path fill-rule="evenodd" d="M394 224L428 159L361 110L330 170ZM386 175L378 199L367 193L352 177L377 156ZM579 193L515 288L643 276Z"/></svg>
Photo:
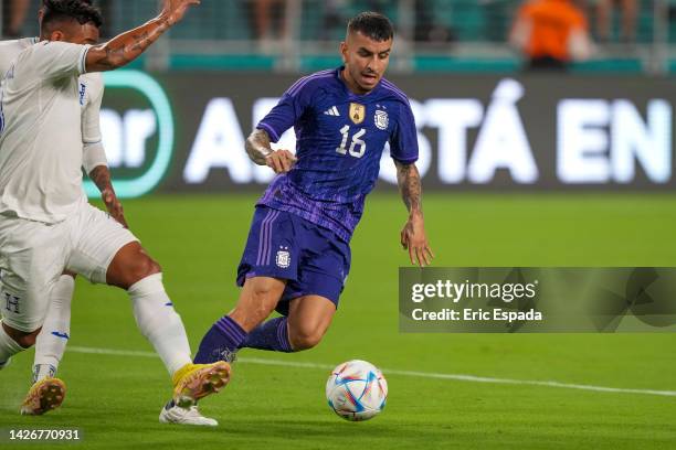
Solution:
<svg viewBox="0 0 676 450"><path fill-rule="evenodd" d="M52 288L50 307L35 341L33 383L56 374L71 335L71 300L74 290L75 279L70 275L62 275Z"/></svg>

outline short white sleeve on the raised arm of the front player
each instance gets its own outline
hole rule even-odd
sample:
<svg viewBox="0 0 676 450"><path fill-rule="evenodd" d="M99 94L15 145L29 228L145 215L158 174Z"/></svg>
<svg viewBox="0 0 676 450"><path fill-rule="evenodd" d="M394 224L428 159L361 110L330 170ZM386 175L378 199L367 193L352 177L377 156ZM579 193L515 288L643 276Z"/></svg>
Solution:
<svg viewBox="0 0 676 450"><path fill-rule="evenodd" d="M41 78L61 78L85 73L85 60L91 45L62 41L42 41L29 52L30 66Z"/></svg>

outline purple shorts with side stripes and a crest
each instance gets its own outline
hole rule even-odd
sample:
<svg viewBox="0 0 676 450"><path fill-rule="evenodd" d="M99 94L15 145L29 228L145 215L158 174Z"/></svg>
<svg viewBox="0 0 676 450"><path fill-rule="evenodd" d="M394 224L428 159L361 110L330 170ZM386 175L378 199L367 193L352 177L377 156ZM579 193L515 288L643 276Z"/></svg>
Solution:
<svg viewBox="0 0 676 450"><path fill-rule="evenodd" d="M246 278L286 280L276 310L288 314L288 302L321 296L336 304L350 271L350 246L338 236L295 214L258 205L237 268L237 286Z"/></svg>

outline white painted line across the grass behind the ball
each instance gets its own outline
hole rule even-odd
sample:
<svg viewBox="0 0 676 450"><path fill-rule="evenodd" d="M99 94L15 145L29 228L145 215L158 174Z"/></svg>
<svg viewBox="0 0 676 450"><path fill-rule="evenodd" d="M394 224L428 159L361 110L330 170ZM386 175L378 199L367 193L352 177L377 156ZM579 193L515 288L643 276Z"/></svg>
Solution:
<svg viewBox="0 0 676 450"><path fill-rule="evenodd" d="M135 350L113 350L113 349L92 349L83 346L68 346L68 352L75 353L94 353L99 355L113 355L113 356L139 356L139 357L152 357L157 358L157 354L154 352L135 351ZM284 367L303 367L303 368L316 368L323 371L330 371L335 366L330 364L316 364L316 363L304 363L293 361L279 361L279 360L267 360L261 357L240 357L237 363L244 364L261 364L268 366L284 366ZM545 386L545 387L560 387L566 389L581 389L592 390L596 393L617 393L617 394L642 394L642 395L658 395L663 397L676 397L676 390L655 390L655 389L631 389L621 387L606 387L606 386L592 386L581 385L572 383L560 383L560 382L541 382L535 379L509 379L509 378L493 378L486 376L474 376L474 375L462 375L462 374L439 374L433 372L414 372L414 371L397 371L382 368L382 372L387 376L411 376L416 378L433 378L433 379L453 379L456 382L471 382L471 383L490 383L490 384L509 384L509 385L521 385L521 386Z"/></svg>

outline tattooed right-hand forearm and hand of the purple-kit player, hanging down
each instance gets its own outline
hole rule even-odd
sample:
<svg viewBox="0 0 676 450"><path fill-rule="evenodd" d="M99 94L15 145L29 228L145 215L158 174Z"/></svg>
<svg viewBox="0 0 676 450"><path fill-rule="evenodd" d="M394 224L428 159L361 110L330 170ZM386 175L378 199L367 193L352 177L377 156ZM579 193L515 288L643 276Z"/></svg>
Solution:
<svg viewBox="0 0 676 450"><path fill-rule="evenodd" d="M414 163L403 164L394 161L397 165L397 182L401 196L409 210L409 219L401 231L401 245L409 250L411 264L429 266L434 254L425 235L425 222L422 213L422 183L420 173Z"/></svg>

